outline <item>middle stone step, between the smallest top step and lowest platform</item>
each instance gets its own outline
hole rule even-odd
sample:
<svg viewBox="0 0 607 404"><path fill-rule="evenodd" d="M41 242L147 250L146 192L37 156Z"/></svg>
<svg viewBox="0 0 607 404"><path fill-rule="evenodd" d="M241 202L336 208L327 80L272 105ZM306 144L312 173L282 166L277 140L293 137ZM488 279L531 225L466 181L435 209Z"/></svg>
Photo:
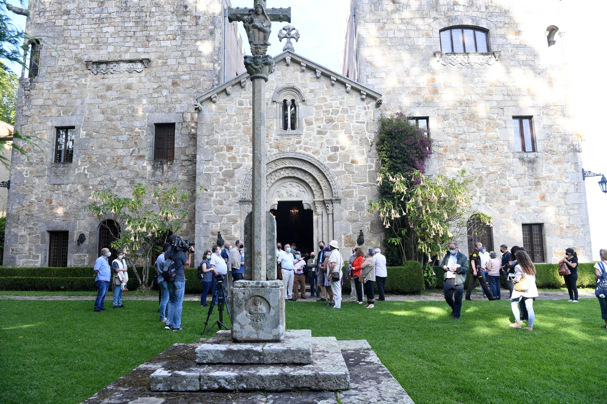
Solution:
<svg viewBox="0 0 607 404"><path fill-rule="evenodd" d="M152 391L337 391L350 385L350 372L334 337L312 337L307 365L171 362L149 377Z"/></svg>

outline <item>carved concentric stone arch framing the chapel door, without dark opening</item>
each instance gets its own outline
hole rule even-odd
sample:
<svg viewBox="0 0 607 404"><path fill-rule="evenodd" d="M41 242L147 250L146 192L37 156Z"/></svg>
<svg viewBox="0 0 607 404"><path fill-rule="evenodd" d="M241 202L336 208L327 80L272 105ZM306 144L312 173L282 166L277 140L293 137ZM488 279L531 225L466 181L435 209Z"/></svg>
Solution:
<svg viewBox="0 0 607 404"><path fill-rule="evenodd" d="M251 176L246 175L240 194L242 221L251 210ZM325 164L312 155L282 152L266 160L266 201L273 209L279 201L302 201L314 215L314 245L335 238L334 223L339 221L341 198L337 180Z"/></svg>

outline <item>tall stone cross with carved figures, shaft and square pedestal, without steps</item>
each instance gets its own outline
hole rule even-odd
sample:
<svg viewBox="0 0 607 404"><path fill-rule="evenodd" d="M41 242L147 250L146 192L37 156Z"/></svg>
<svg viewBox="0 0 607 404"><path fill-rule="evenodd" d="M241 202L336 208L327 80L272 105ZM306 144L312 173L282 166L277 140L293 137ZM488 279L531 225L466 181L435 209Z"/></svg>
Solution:
<svg viewBox="0 0 607 404"><path fill-rule="evenodd" d="M274 72L274 60L266 55L272 21L291 22L291 7L266 9L265 0L253 8L228 9L228 21L242 21L253 55L245 56L246 72L253 82L253 177L252 209L245 223L245 257L251 266L250 280L232 288L232 339L236 342L280 341L285 336L285 291L276 279L276 222L266 210L265 83ZM270 234L270 235L268 235ZM268 240L270 238L270 240ZM271 241L271 245L268 244ZM246 264L246 263L245 263ZM274 269L272 269L274 268Z"/></svg>

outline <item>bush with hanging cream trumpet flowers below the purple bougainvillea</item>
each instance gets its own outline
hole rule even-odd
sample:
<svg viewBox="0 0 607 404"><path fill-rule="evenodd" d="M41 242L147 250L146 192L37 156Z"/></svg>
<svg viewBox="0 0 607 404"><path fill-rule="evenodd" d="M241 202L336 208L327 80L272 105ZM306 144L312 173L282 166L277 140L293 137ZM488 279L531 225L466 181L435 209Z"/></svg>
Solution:
<svg viewBox="0 0 607 404"><path fill-rule="evenodd" d="M456 178L426 177L419 170L409 176L378 175L378 183L386 182L392 197L371 201L368 212L379 212L390 232L387 241L398 246L403 262L440 256L450 240L467 234L467 220L472 216L490 225L492 218L474 209L473 180L466 180L465 175L465 170Z"/></svg>

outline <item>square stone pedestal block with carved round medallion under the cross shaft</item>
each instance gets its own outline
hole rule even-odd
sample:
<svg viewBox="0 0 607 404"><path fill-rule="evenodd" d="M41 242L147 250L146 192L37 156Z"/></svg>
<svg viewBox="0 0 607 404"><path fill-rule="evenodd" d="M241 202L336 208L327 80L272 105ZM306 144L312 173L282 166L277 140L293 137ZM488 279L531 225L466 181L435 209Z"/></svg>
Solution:
<svg viewBox="0 0 607 404"><path fill-rule="evenodd" d="M241 280L232 286L232 339L277 342L285 337L285 284Z"/></svg>

